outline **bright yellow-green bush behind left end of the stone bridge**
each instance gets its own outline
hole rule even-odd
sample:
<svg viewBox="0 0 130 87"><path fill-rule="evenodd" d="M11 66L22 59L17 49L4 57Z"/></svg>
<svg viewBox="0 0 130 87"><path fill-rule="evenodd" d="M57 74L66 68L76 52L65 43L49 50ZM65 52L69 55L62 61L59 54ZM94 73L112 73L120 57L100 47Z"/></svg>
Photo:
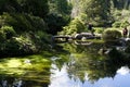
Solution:
<svg viewBox="0 0 130 87"><path fill-rule="evenodd" d="M75 35L77 33L81 33L86 29L84 25L78 18L73 20L68 26L65 26L63 32L60 34L64 35Z"/></svg>

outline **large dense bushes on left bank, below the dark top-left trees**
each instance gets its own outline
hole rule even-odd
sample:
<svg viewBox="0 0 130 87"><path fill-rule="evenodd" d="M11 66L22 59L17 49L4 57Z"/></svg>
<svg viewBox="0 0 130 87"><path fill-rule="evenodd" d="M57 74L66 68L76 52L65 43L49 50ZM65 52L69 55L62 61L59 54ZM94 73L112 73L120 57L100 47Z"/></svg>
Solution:
<svg viewBox="0 0 130 87"><path fill-rule="evenodd" d="M4 13L0 21L0 53L3 55L35 53L50 41L48 27L38 16Z"/></svg>

